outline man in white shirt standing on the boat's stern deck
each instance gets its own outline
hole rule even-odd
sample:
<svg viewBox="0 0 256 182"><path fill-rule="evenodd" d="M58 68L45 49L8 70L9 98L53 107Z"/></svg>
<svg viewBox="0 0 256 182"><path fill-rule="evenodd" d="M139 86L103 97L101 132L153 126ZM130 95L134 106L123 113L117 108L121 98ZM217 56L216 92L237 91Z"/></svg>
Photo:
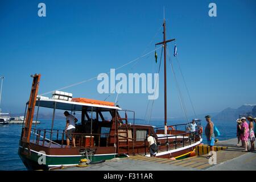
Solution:
<svg viewBox="0 0 256 182"><path fill-rule="evenodd" d="M65 115L66 121L67 121L66 127L65 127L65 134L66 134L66 139L67 139L67 147L69 147L70 139L72 140L73 147L76 147L75 137L73 136L73 133L75 133L75 130L76 130L75 123L78 120L73 115L69 114L68 111L65 111L64 115Z"/></svg>

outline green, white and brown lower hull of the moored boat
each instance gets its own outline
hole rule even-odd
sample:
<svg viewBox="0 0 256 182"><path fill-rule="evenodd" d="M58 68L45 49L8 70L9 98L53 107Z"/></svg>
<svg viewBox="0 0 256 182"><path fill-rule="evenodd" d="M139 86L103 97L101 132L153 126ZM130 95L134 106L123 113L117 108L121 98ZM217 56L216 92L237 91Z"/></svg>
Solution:
<svg viewBox="0 0 256 182"><path fill-rule="evenodd" d="M195 147L201 143L201 140L191 146L188 147L180 147L174 150L168 151L159 151L156 154L157 158L175 158L182 159L187 158L190 153L195 150ZM81 159L85 159L84 155L47 155L43 154L43 151L35 151L29 146L20 145L18 154L24 166L28 170L48 170L52 167L60 167L60 166L76 166L79 164ZM96 154L96 155L88 155L88 159L90 162L97 163L101 160L109 160L113 158L123 158L127 155L117 155L117 154ZM150 155L146 155L150 156Z"/></svg>

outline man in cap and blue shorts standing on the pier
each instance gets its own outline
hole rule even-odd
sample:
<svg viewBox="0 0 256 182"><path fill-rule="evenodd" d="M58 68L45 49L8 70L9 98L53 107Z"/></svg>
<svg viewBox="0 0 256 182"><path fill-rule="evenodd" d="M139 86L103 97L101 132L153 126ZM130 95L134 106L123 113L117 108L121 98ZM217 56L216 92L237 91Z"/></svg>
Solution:
<svg viewBox="0 0 256 182"><path fill-rule="evenodd" d="M211 121L210 115L205 116L205 120L207 121L207 126L205 126L205 136L207 137L207 142L208 146L210 146L210 154L207 156L207 159L213 156L213 151L214 151L214 132L213 132L213 127L214 124Z"/></svg>

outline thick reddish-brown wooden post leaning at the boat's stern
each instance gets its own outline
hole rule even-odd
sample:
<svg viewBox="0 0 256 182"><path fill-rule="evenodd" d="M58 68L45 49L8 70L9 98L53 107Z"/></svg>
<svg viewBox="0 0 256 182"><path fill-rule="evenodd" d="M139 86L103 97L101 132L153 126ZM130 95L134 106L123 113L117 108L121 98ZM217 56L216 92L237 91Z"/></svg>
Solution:
<svg viewBox="0 0 256 182"><path fill-rule="evenodd" d="M30 132L31 132L31 127L32 127L32 122L34 117L36 97L38 96L39 81L40 81L41 75L35 74L35 75L31 75L31 77L33 77L33 82L32 82L32 88L30 92L30 100L28 101L26 122L25 122L23 135L22 135L22 141L26 143L30 142Z"/></svg>

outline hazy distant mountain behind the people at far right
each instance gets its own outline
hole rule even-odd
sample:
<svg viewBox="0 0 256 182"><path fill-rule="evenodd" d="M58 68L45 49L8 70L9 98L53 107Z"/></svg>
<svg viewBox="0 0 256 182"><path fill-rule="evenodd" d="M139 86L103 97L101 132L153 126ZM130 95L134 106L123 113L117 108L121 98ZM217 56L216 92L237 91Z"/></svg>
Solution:
<svg viewBox="0 0 256 182"><path fill-rule="evenodd" d="M238 107L237 109L228 107L222 110L220 113L214 115L213 119L219 121L234 121L238 117L251 115L253 109L256 111L256 105L245 104L241 107Z"/></svg>

